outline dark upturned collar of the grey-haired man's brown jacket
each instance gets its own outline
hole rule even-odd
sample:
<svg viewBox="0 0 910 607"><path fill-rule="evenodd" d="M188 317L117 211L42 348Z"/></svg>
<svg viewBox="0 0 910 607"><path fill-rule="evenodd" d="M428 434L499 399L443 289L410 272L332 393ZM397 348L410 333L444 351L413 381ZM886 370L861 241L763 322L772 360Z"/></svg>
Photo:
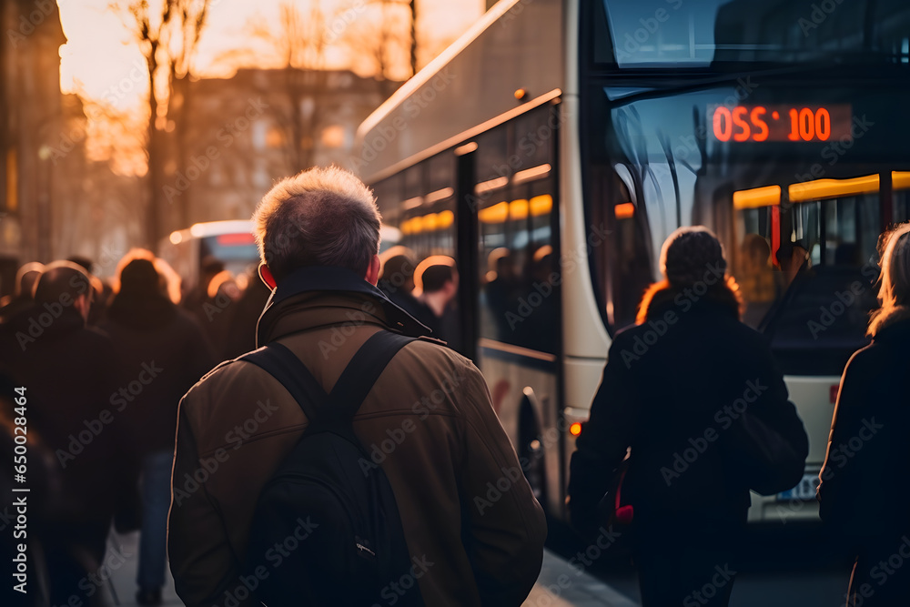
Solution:
<svg viewBox="0 0 910 607"><path fill-rule="evenodd" d="M430 329L347 268L299 268L272 291L256 329L257 347L290 333L345 323L378 324L410 336Z"/></svg>

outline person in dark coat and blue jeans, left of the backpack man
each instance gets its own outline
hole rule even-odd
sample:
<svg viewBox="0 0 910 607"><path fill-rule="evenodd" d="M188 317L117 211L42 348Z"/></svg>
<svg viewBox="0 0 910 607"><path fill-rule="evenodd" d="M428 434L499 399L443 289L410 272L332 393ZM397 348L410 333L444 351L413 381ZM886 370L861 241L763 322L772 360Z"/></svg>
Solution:
<svg viewBox="0 0 910 607"><path fill-rule="evenodd" d="M161 602L167 554L167 508L177 432L177 405L215 365L196 319L167 297L149 259L136 258L120 273L120 290L100 325L110 335L122 385L111 404L123 411L136 458L141 460L142 535L139 604Z"/></svg>

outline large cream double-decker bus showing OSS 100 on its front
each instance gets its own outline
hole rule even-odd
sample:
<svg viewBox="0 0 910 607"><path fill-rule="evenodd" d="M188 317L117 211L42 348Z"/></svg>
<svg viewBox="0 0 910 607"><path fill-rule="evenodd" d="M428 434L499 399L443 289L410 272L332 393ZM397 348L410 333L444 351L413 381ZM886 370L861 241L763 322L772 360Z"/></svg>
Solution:
<svg viewBox="0 0 910 607"><path fill-rule="evenodd" d="M810 439L750 521L817 520L840 375L910 218L903 0L501 0L360 126L384 221L460 268L463 353L545 509L664 239L723 242ZM659 380L655 378L655 380Z"/></svg>

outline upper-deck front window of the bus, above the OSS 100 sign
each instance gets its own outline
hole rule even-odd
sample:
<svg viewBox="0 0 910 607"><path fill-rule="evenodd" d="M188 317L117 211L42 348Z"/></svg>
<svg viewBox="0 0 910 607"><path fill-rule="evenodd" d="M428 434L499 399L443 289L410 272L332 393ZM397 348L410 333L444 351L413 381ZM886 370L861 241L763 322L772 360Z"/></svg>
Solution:
<svg viewBox="0 0 910 607"><path fill-rule="evenodd" d="M904 0L604 0L597 66L908 60Z"/></svg>

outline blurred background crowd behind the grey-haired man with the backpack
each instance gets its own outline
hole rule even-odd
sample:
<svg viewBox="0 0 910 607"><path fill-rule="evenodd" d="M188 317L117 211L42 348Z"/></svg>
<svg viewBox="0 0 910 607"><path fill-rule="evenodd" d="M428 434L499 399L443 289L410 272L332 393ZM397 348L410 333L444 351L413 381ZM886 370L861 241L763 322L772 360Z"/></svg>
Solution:
<svg viewBox="0 0 910 607"><path fill-rule="evenodd" d="M393 247L382 261L379 288L432 336L454 338L454 260L418 263L409 249ZM253 265L235 274L207 256L197 274L187 284L139 248L110 280L96 277L86 258L33 262L19 268L15 294L0 302L0 525L15 524L11 490L27 487L21 541L33 583L45 581L29 601L100 601L106 582L96 572L113 525L141 531L136 600L161 602L178 403L219 362L257 347L270 295ZM22 469L16 434L25 435ZM3 538L3 558L12 559L20 540ZM5 605L26 598L9 585L3 592Z"/></svg>

